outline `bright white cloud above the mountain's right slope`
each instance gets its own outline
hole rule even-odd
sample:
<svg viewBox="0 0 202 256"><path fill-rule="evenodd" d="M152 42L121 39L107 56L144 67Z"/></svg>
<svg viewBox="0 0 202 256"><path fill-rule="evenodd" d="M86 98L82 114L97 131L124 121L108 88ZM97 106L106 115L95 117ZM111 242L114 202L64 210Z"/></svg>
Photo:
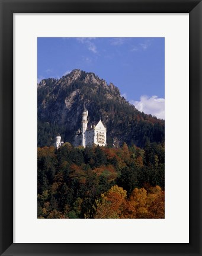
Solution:
<svg viewBox="0 0 202 256"><path fill-rule="evenodd" d="M140 97L140 101L130 100L130 103L133 104L141 112L152 114L159 119L165 119L164 98L158 98L158 96L155 95L149 98L148 96L143 95Z"/></svg>

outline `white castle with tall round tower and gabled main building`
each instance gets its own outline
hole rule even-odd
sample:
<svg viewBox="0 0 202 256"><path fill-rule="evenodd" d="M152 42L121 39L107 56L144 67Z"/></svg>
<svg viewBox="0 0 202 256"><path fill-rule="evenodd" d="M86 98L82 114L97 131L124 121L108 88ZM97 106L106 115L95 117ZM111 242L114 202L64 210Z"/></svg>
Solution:
<svg viewBox="0 0 202 256"><path fill-rule="evenodd" d="M76 132L74 146L106 146L107 145L107 129L102 123L92 123L88 125L88 110L82 113L82 128Z"/></svg>

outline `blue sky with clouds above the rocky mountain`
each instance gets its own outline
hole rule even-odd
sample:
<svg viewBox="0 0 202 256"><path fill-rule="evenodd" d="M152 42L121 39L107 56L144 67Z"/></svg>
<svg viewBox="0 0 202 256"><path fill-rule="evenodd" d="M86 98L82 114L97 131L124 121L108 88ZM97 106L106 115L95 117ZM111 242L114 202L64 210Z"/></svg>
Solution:
<svg viewBox="0 0 202 256"><path fill-rule="evenodd" d="M113 82L140 111L165 117L163 37L39 37L37 81L73 69Z"/></svg>

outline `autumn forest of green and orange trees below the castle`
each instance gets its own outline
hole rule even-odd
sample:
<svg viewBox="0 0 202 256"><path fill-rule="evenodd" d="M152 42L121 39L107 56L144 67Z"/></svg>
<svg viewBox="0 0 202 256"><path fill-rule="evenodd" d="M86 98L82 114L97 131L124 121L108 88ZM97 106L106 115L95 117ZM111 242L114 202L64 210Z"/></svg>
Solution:
<svg viewBox="0 0 202 256"><path fill-rule="evenodd" d="M38 148L38 218L162 219L165 146Z"/></svg>

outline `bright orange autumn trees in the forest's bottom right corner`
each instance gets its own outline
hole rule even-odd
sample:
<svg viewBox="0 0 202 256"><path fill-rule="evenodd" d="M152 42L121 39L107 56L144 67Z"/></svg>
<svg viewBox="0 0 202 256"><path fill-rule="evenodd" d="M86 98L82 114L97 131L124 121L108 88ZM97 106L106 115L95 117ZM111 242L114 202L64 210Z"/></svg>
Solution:
<svg viewBox="0 0 202 256"><path fill-rule="evenodd" d="M97 219L133 218L133 219L163 219L164 191L159 186L134 188L129 199L126 190L114 185L97 201Z"/></svg>

